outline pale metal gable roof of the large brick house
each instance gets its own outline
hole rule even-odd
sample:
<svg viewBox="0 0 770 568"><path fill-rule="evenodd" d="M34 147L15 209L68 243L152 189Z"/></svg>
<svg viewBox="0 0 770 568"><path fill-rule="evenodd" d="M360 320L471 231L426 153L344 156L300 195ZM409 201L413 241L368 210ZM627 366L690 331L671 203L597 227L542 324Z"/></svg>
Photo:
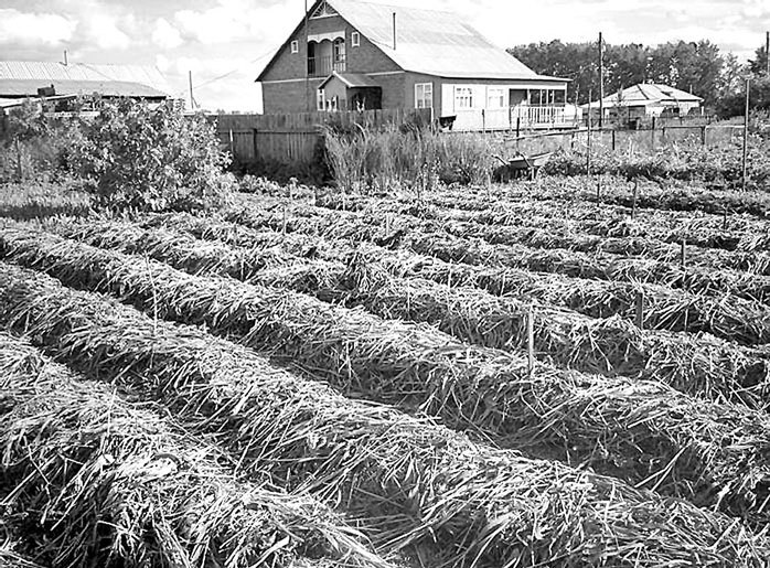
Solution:
<svg viewBox="0 0 770 568"><path fill-rule="evenodd" d="M316 2L316 6L319 3ZM537 75L503 49L492 44L456 13L359 0L329 0L327 3L404 71L447 78L568 81ZM300 28L301 24L298 30ZM267 64L257 81L263 79L277 57L278 54Z"/></svg>

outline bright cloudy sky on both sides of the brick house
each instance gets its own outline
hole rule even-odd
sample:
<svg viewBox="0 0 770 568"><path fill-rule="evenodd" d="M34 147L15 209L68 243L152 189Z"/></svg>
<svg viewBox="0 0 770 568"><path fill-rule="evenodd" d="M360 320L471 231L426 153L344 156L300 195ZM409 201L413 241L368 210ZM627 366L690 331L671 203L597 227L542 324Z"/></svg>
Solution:
<svg viewBox="0 0 770 568"><path fill-rule="evenodd" d="M370 0L379 1L382 0ZM312 0L309 0L312 3ZM389 4L415 6L414 0ZM421 0L501 47L596 40L710 40L741 60L763 45L770 0ZM304 0L0 0L0 60L156 65L202 108L259 111L254 83L301 21Z"/></svg>

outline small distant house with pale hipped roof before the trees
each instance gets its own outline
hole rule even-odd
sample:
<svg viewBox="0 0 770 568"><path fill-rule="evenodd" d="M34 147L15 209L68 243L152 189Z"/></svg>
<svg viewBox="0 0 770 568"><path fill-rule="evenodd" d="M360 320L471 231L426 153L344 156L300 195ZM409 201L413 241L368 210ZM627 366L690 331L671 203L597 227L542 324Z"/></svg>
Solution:
<svg viewBox="0 0 770 568"><path fill-rule="evenodd" d="M667 85L640 83L605 97L605 118L633 121L661 116L686 116L701 114L703 98ZM592 119L599 118L599 101L581 107Z"/></svg>

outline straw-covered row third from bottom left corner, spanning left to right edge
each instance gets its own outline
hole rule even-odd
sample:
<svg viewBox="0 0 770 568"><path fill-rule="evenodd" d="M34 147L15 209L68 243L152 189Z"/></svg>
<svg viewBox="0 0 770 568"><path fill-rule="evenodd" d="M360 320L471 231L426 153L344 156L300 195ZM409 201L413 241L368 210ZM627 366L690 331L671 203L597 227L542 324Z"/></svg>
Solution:
<svg viewBox="0 0 770 568"><path fill-rule="evenodd" d="M3 256L109 290L158 317L207 325L341 387L443 418L531 454L585 463L764 522L770 418L653 382L606 378L459 343L314 298L63 240L4 231ZM725 443L730 440L729 443Z"/></svg>

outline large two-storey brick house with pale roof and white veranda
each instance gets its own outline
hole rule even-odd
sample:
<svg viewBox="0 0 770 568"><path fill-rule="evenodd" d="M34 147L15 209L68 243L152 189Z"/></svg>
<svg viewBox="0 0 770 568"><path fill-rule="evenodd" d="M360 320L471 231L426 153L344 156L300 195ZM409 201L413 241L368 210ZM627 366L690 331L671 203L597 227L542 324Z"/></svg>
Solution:
<svg viewBox="0 0 770 568"><path fill-rule="evenodd" d="M568 79L537 75L457 14L319 0L257 82L266 114L430 108L458 129L574 125Z"/></svg>

